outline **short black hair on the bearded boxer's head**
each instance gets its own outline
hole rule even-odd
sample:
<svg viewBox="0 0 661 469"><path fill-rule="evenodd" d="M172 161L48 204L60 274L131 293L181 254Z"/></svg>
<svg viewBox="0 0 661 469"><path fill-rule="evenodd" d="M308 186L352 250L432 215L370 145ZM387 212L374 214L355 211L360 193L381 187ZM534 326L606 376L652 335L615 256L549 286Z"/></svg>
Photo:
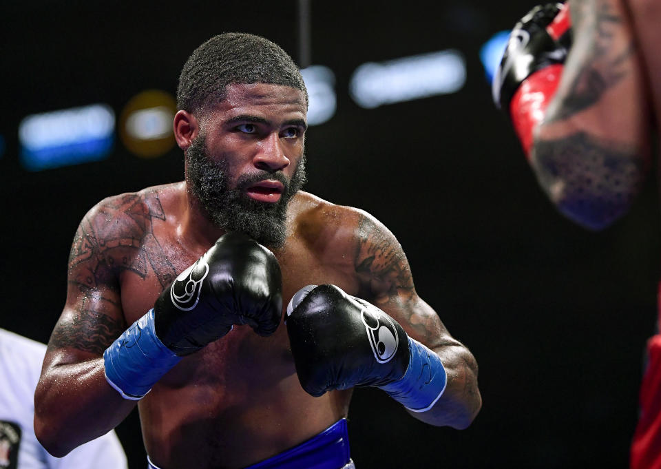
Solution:
<svg viewBox="0 0 661 469"><path fill-rule="evenodd" d="M297 65L279 45L242 32L214 36L193 51L179 76L177 107L196 114L224 98L232 83L270 83L308 92Z"/></svg>

